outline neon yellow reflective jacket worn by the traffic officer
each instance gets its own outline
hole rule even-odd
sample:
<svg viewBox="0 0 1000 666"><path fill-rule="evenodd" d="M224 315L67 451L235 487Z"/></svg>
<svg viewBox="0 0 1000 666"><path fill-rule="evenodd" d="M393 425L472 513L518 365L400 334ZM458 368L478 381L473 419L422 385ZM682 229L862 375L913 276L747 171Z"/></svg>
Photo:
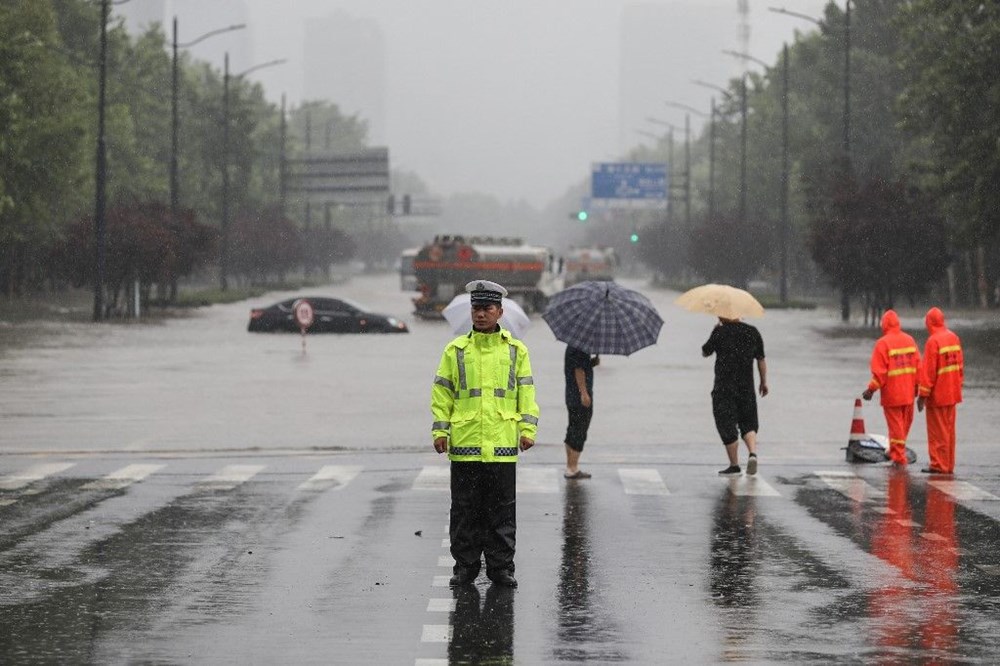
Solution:
<svg viewBox="0 0 1000 666"><path fill-rule="evenodd" d="M431 389L434 439L455 461L517 462L521 436L535 439L538 403L528 348L509 331L468 334L441 355Z"/></svg>

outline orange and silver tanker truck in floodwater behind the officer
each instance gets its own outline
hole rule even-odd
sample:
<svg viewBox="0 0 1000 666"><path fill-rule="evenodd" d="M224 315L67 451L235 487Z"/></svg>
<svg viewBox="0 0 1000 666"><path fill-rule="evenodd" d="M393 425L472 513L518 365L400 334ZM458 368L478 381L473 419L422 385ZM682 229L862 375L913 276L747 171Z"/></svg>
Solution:
<svg viewBox="0 0 1000 666"><path fill-rule="evenodd" d="M519 238L436 236L413 260L420 296L413 299L418 317L438 318L465 285L477 278L499 282L508 298L526 311L540 312L551 280L548 248L525 245Z"/></svg>

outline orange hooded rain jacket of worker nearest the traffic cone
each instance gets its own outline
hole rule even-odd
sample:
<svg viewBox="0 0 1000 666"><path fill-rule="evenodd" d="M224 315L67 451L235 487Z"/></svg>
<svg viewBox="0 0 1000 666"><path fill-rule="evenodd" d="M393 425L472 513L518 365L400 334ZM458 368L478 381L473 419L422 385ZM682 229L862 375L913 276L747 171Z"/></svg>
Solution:
<svg viewBox="0 0 1000 666"><path fill-rule="evenodd" d="M881 394L883 407L913 404L920 351L913 337L900 328L899 315L893 310L882 315L882 337L872 350L871 370L868 388Z"/></svg>

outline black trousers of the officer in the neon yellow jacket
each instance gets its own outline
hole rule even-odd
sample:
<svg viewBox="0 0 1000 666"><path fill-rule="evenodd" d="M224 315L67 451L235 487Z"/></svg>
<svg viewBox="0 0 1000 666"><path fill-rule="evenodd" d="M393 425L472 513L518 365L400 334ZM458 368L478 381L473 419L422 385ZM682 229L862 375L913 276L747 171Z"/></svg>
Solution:
<svg viewBox="0 0 1000 666"><path fill-rule="evenodd" d="M455 573L514 573L517 463L451 463L451 556Z"/></svg>

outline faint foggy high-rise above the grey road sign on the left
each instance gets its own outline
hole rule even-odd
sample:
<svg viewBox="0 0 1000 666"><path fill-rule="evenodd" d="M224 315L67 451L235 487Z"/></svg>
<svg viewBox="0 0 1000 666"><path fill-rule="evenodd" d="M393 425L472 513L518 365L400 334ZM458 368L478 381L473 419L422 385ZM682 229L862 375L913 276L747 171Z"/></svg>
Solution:
<svg viewBox="0 0 1000 666"><path fill-rule="evenodd" d="M371 19L336 12L306 23L302 99L327 100L368 122L370 144L386 140L385 40Z"/></svg>

